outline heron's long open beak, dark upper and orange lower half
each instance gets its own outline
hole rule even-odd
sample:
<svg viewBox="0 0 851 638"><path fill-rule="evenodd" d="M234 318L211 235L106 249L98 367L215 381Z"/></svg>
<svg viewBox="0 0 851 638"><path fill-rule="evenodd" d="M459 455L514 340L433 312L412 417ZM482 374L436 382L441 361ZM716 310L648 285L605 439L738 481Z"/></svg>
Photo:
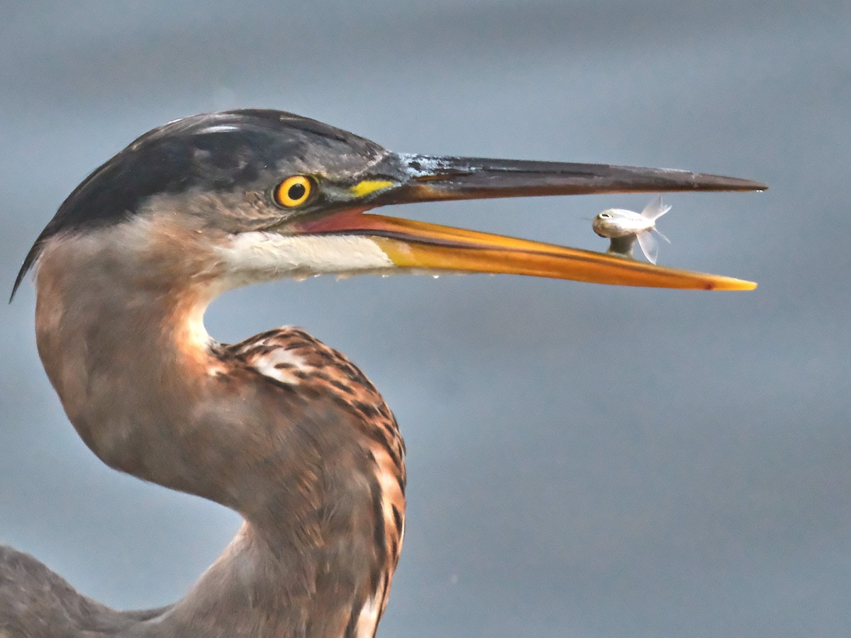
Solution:
<svg viewBox="0 0 851 638"><path fill-rule="evenodd" d="M754 282L624 257L385 215L386 204L640 191L762 191L747 179L660 168L391 154L352 187L357 208L304 219L296 232L367 236L394 265L414 271L489 272L623 286L752 290Z"/></svg>

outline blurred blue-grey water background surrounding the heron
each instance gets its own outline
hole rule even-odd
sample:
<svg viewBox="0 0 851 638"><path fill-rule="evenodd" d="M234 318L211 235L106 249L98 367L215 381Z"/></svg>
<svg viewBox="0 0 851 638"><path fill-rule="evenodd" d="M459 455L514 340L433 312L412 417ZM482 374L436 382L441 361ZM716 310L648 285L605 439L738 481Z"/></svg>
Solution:
<svg viewBox="0 0 851 638"><path fill-rule="evenodd" d="M396 151L687 168L660 263L753 293L512 276L277 282L209 310L343 350L408 441L382 636L851 631L851 4L732 0L12 3L0 20L0 282L149 128L266 106ZM603 250L646 195L391 214ZM0 321L0 542L115 607L174 601L239 525L108 470Z"/></svg>

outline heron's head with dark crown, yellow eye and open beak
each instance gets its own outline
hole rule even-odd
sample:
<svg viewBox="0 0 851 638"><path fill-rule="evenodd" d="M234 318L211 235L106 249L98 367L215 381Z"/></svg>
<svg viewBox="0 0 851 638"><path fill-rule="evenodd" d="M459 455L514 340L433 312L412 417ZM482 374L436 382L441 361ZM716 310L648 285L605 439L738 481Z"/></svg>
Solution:
<svg viewBox="0 0 851 638"><path fill-rule="evenodd" d="M226 288L282 276L447 271L753 288L367 211L484 197L762 188L669 169L399 154L283 111L225 111L168 122L94 170L38 237L14 288L50 242L68 238L100 244L116 264L133 254L157 276L206 275Z"/></svg>

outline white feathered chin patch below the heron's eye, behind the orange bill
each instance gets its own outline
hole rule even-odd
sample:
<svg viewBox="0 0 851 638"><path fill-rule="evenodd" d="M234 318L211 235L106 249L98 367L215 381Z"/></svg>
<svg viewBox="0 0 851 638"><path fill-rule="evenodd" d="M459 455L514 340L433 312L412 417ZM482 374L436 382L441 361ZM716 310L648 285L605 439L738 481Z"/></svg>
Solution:
<svg viewBox="0 0 851 638"><path fill-rule="evenodd" d="M292 236L253 231L234 237L219 251L231 276L243 282L284 276L357 275L396 268L378 244L364 236Z"/></svg>

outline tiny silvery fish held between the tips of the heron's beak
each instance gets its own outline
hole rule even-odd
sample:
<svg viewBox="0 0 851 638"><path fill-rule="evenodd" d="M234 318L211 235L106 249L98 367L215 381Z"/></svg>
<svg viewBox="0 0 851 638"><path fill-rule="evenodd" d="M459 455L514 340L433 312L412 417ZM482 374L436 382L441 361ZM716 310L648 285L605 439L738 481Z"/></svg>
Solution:
<svg viewBox="0 0 851 638"><path fill-rule="evenodd" d="M662 196L659 195L654 197L641 213L623 208L609 208L597 214L592 225L597 235L611 240L609 253L632 257L632 244L637 239L644 256L651 264L655 264L656 258L659 257L659 243L653 233L659 233L665 242L671 243L670 239L656 230L656 219L669 210L671 207L665 206Z"/></svg>

